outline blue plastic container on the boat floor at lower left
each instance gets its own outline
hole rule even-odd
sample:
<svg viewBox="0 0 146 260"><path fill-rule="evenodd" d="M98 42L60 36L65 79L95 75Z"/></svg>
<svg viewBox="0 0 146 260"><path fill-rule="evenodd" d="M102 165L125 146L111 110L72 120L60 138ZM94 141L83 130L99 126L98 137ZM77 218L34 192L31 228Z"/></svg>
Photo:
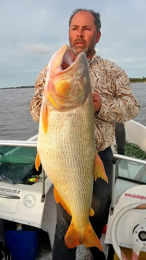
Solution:
<svg viewBox="0 0 146 260"><path fill-rule="evenodd" d="M5 247L12 260L34 260L38 255L38 230L5 230Z"/></svg>

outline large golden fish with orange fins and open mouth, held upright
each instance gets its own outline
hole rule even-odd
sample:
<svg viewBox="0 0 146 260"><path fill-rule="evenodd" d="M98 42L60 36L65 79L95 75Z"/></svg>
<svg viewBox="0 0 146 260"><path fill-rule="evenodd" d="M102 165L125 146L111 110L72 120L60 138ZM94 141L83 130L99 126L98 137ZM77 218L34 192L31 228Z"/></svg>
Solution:
<svg viewBox="0 0 146 260"><path fill-rule="evenodd" d="M65 244L102 250L89 216L93 179L107 176L94 143L94 106L88 61L63 45L51 58L40 111L36 169L41 164L54 184L54 197L72 216ZM98 223L97 223L98 225Z"/></svg>

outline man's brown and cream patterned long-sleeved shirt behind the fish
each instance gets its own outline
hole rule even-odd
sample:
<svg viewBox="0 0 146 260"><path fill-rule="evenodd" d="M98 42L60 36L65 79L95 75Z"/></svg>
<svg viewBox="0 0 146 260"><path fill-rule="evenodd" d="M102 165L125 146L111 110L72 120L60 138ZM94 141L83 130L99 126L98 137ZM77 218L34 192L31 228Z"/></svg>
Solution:
<svg viewBox="0 0 146 260"><path fill-rule="evenodd" d="M136 117L140 107L126 73L114 62L96 56L88 60L92 91L102 97L102 105L95 112L95 146L102 151L113 145L115 122L124 122ZM30 103L32 118L39 122L47 65L39 73L35 83L35 95Z"/></svg>

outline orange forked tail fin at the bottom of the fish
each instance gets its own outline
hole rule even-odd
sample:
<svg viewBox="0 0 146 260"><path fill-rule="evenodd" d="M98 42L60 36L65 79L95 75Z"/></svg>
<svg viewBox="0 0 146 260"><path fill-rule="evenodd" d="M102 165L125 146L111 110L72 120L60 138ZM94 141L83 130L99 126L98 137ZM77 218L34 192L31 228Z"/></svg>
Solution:
<svg viewBox="0 0 146 260"><path fill-rule="evenodd" d="M74 222L71 222L65 235L65 244L68 248L74 248L81 244L84 244L87 248L96 246L103 251L101 242L90 223L87 225L85 232L81 233L80 230L76 229Z"/></svg>

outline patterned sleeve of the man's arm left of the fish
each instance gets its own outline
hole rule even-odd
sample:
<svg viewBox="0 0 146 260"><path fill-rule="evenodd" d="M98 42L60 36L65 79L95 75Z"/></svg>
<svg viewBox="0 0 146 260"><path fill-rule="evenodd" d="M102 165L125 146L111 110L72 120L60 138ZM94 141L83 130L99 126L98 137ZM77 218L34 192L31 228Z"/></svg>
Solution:
<svg viewBox="0 0 146 260"><path fill-rule="evenodd" d="M35 95L30 102L30 113L32 115L32 118L37 122L39 122L40 108L43 97L43 90L45 86L46 74L47 65L41 70L37 77L34 87Z"/></svg>

